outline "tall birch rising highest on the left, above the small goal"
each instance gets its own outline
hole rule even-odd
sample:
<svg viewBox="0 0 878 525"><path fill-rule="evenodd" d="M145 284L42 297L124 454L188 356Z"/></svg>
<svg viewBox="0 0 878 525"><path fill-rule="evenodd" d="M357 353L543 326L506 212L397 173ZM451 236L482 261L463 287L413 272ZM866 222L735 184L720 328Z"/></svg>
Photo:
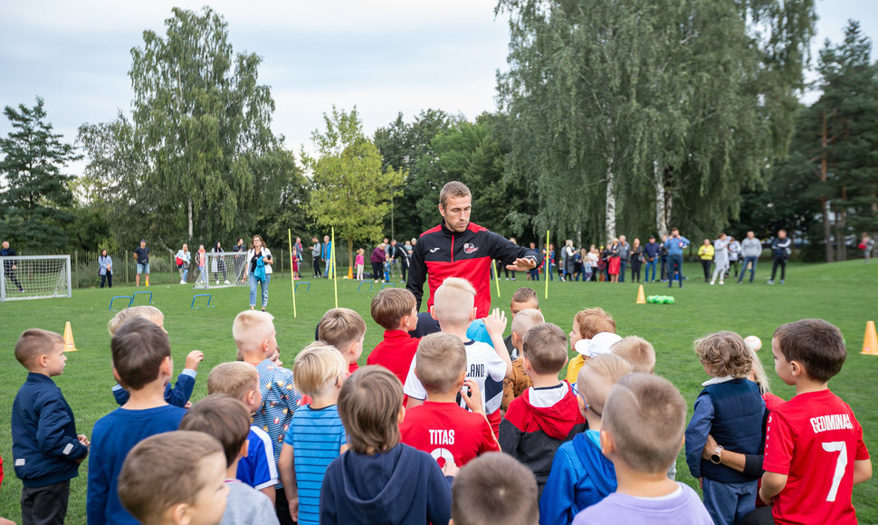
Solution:
<svg viewBox="0 0 878 525"><path fill-rule="evenodd" d="M260 57L233 52L224 19L180 8L164 37L131 50L135 140L148 166L138 194L169 235L215 240L277 205L288 156L270 128L274 101Z"/></svg>

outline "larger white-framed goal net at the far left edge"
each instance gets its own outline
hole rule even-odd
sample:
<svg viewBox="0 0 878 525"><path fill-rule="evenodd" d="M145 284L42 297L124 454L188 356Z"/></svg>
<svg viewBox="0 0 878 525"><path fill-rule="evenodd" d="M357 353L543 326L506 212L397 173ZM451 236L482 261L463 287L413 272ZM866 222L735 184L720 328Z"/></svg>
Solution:
<svg viewBox="0 0 878 525"><path fill-rule="evenodd" d="M70 255L0 257L0 301L71 296Z"/></svg>

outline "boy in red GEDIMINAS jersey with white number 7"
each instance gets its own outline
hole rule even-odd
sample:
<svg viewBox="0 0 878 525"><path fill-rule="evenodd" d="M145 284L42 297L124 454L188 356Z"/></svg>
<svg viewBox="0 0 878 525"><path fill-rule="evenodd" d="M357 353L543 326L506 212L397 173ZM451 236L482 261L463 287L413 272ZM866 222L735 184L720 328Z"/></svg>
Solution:
<svg viewBox="0 0 878 525"><path fill-rule="evenodd" d="M851 495L872 477L872 461L851 407L826 386L847 357L842 333L825 320L787 323L771 352L796 396L768 415L759 497L778 524L856 523Z"/></svg>

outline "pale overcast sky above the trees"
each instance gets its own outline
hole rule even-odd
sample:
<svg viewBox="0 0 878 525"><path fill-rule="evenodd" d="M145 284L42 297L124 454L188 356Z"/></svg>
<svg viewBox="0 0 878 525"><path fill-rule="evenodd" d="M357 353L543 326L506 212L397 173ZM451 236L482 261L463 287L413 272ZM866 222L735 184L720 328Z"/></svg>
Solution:
<svg viewBox="0 0 878 525"><path fill-rule="evenodd" d="M130 49L164 33L178 0L0 2L0 107L45 99L48 119L72 142L84 122L129 112ZM276 103L272 129L295 151L310 145L332 104L355 104L367 134L402 111L436 108L472 119L496 108L506 63L506 19L493 0L272 0L210 2L229 24L235 52L262 57L260 81ZM878 35L878 2L817 0L816 50L838 42L849 18ZM876 55L873 52L873 58ZM806 97L806 100L813 97ZM0 119L0 135L11 127ZM72 167L77 171L76 167Z"/></svg>

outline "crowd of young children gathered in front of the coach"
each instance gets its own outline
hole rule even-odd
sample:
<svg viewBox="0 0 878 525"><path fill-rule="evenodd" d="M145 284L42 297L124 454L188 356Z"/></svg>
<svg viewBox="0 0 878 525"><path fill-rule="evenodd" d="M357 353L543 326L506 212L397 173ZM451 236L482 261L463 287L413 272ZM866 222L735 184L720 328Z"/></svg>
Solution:
<svg viewBox="0 0 878 525"><path fill-rule="evenodd" d="M29 374L12 415L24 524L64 522L86 458L90 525L856 522L853 486L872 463L826 385L846 357L835 326L776 330L775 369L796 387L786 403L739 335L695 341L710 378L687 426L682 395L654 375L653 345L616 335L605 310L579 311L568 336L520 289L504 340L505 314L475 320L474 296L447 279L430 309L438 326L425 328L411 292L380 291L371 315L384 338L363 368L354 310L327 311L292 369L272 315L243 311L238 360L210 371L195 404L204 355L190 352L171 387L161 312L123 310L109 325L119 408L91 441L52 381L63 338L25 330L15 358ZM703 501L674 480L683 446Z"/></svg>

